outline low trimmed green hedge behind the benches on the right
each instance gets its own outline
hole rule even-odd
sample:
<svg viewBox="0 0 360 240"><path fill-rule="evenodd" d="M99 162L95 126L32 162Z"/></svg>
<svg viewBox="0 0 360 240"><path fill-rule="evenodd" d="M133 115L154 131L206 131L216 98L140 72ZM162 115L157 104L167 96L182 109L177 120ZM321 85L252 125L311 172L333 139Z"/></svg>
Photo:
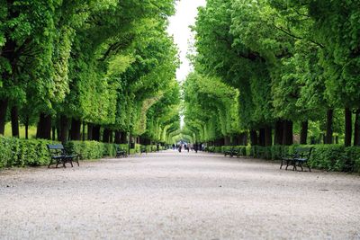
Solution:
<svg viewBox="0 0 360 240"><path fill-rule="evenodd" d="M223 146L213 148L216 153L224 153L231 147L240 149L242 156L279 160L285 154L293 154L296 147L314 147L309 164L313 168L326 171L360 173L360 147L341 145L292 145L292 146Z"/></svg>

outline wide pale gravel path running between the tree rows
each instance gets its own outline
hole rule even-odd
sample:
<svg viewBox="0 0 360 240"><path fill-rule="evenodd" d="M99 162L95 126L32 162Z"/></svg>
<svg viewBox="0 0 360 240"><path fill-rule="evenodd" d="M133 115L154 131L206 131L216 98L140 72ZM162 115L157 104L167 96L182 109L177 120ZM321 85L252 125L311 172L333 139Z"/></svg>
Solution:
<svg viewBox="0 0 360 240"><path fill-rule="evenodd" d="M360 177L168 151L0 171L1 239L360 239Z"/></svg>

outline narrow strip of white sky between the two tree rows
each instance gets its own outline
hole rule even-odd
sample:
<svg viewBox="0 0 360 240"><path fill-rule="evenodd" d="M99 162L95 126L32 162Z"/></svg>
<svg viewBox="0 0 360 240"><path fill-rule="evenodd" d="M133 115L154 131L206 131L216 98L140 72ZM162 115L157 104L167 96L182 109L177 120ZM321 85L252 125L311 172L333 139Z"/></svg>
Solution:
<svg viewBox="0 0 360 240"><path fill-rule="evenodd" d="M180 0L176 2L176 14L170 18L168 32L174 36L175 43L180 50L181 66L177 69L176 78L183 81L191 71L189 60L186 58L189 40L193 41L189 26L195 23L197 7L204 6L206 0Z"/></svg>

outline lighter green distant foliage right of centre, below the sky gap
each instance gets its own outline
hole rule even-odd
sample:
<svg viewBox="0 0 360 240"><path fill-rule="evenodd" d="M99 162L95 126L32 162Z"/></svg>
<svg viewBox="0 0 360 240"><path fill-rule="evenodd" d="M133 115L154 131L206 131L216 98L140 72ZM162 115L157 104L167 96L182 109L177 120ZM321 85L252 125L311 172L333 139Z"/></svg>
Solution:
<svg viewBox="0 0 360 240"><path fill-rule="evenodd" d="M184 114L197 141L237 133L238 91L215 77L192 73L184 83Z"/></svg>

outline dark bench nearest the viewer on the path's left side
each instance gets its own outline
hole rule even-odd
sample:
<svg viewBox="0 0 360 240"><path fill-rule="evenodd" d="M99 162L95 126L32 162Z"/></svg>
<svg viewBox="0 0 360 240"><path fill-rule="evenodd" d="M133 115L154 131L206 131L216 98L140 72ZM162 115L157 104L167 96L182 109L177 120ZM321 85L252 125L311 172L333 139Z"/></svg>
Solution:
<svg viewBox="0 0 360 240"><path fill-rule="evenodd" d="M67 167L65 165L67 163L71 164L73 167L73 161L76 162L78 166L80 166L78 163L79 155L69 155L62 144L47 144L46 146L48 147L50 157L48 168L51 164L53 164L54 161L56 163L56 168L58 168L58 164L62 164L64 167Z"/></svg>

